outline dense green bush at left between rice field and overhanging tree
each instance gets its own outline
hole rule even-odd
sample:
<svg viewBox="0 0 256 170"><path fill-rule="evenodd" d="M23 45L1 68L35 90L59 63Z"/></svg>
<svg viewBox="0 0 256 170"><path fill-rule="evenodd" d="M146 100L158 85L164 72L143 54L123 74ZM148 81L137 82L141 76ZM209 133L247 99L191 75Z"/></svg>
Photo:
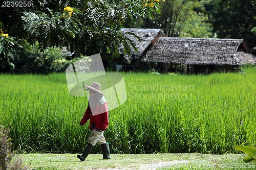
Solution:
<svg viewBox="0 0 256 170"><path fill-rule="evenodd" d="M51 72L63 72L73 62L86 56L71 58L63 55L60 48L48 47L41 51L39 45L28 46L28 49L19 54L19 57L0 58L0 71L26 72L49 74Z"/></svg>

